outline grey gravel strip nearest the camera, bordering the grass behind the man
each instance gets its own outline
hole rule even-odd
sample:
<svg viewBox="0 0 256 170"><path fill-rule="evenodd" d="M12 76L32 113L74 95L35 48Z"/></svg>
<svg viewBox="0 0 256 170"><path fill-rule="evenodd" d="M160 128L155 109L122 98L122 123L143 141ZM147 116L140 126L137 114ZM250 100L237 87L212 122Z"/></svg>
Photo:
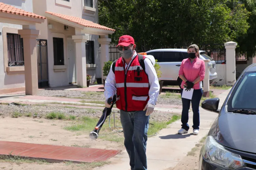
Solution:
<svg viewBox="0 0 256 170"><path fill-rule="evenodd" d="M100 118L102 115L102 110L104 109L85 109L85 108L70 108L68 106L63 105L63 107L59 106L36 106L36 105L0 105L1 113L0 116L4 117L12 117L13 114L18 114L20 116L27 116L31 113L31 116L34 118L45 118L45 115L51 112L60 112L64 113L66 116L75 115L76 117L93 117ZM113 117L113 113L115 114L116 119L120 119L119 110L112 110L111 117ZM162 111L154 111L151 114L151 120L154 121L169 121L172 117L172 113L170 112L162 112Z"/></svg>

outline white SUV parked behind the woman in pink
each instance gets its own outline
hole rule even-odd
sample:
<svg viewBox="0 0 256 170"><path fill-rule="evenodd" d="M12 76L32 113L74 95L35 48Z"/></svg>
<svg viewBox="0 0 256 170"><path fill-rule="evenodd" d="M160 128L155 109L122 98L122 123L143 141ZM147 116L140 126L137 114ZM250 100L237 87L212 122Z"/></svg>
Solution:
<svg viewBox="0 0 256 170"><path fill-rule="evenodd" d="M166 84L180 86L182 80L179 78L179 70L182 60L188 58L187 49L154 49L146 52L147 55L152 55L157 60L157 63L161 66L162 72L161 80ZM200 59L211 60L213 67L210 68L210 83L213 79L216 79L217 73L215 69L215 61L205 54L205 51L199 50Z"/></svg>

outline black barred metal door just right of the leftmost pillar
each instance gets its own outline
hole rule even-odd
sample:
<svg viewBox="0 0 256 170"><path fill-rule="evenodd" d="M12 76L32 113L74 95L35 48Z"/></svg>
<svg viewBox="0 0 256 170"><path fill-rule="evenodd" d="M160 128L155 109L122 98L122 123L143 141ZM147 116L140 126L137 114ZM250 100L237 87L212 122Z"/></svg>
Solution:
<svg viewBox="0 0 256 170"><path fill-rule="evenodd" d="M38 87L49 87L47 40L37 39Z"/></svg>

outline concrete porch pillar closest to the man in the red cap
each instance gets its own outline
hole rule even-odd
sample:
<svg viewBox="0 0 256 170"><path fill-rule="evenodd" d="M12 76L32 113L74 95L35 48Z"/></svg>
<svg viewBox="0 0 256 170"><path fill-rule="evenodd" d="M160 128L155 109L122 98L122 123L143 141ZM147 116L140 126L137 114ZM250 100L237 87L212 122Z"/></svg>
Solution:
<svg viewBox="0 0 256 170"><path fill-rule="evenodd" d="M103 83L103 66L104 62L109 61L109 44L111 42L111 38L108 38L108 35L101 35L98 39L98 42L100 43L100 63L101 63L101 82Z"/></svg>

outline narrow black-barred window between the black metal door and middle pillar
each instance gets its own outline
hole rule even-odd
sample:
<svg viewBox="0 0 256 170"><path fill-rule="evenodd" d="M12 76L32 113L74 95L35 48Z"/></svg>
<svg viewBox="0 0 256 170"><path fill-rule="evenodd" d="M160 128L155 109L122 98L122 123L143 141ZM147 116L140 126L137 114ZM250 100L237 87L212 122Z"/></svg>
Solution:
<svg viewBox="0 0 256 170"><path fill-rule="evenodd" d="M64 65L63 38L53 38L54 65Z"/></svg>

